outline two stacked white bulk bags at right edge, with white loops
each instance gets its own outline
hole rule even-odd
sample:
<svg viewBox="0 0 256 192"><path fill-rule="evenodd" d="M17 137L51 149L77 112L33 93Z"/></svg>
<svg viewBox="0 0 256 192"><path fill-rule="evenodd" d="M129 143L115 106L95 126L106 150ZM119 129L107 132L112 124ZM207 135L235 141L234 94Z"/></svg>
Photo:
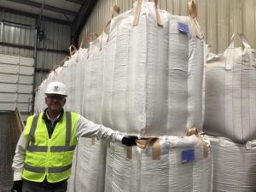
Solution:
<svg viewBox="0 0 256 192"><path fill-rule="evenodd" d="M256 55L244 45L209 54L206 67L206 112L203 131L211 138L213 191L255 191Z"/></svg>

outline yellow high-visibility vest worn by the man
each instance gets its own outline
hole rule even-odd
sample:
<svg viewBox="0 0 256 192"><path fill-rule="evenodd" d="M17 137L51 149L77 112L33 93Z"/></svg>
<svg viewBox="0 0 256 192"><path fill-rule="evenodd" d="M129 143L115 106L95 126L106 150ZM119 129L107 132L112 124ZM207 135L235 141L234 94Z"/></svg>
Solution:
<svg viewBox="0 0 256 192"><path fill-rule="evenodd" d="M71 174L79 114L64 112L49 139L43 112L30 116L24 131L29 140L22 177L29 181L56 183Z"/></svg>

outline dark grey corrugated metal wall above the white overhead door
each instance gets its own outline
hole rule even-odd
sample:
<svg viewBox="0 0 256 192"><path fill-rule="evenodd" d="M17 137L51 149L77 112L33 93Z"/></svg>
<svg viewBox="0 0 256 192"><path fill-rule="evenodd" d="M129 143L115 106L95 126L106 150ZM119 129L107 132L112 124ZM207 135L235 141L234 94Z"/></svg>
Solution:
<svg viewBox="0 0 256 192"><path fill-rule="evenodd" d="M35 57L36 19L2 12L0 15L0 53ZM71 27L42 20L40 28L44 37L38 39L36 86L47 76L46 71L67 55Z"/></svg>

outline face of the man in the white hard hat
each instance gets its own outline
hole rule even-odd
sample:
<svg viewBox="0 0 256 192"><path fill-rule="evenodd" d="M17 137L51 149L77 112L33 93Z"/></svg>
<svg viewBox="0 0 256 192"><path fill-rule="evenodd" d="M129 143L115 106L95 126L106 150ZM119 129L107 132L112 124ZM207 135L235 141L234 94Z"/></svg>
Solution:
<svg viewBox="0 0 256 192"><path fill-rule="evenodd" d="M59 111L63 108L65 103L65 96L49 94L45 97L45 104L48 106L49 110Z"/></svg>

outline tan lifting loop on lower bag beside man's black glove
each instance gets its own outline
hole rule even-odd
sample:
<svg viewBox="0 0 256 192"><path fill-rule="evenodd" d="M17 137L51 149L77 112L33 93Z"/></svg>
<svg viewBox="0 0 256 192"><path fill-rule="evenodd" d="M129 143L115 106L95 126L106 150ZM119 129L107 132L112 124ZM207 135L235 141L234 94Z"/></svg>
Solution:
<svg viewBox="0 0 256 192"><path fill-rule="evenodd" d="M152 146L152 160L160 160L160 140L157 137L141 138L136 141L138 148ZM127 147L127 158L132 158L132 146Z"/></svg>

